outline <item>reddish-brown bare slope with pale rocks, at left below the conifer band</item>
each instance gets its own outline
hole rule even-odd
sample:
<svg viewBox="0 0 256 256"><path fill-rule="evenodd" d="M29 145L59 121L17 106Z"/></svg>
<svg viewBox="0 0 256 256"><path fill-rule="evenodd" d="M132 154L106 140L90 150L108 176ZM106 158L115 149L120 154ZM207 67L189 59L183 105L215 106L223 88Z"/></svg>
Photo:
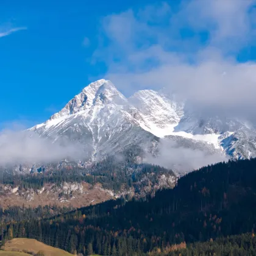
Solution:
<svg viewBox="0 0 256 256"><path fill-rule="evenodd" d="M107 190L99 190L97 186L88 183L67 183L60 185L45 184L40 189L22 188L21 186L0 185L1 207L13 205L25 207L38 207L38 205L72 205L82 207L90 204L98 204L114 198Z"/></svg>

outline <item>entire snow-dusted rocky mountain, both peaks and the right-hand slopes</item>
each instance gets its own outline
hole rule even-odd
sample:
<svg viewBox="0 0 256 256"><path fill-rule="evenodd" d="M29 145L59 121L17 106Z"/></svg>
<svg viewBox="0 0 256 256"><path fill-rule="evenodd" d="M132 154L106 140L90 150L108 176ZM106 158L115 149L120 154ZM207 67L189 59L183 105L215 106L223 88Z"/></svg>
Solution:
<svg viewBox="0 0 256 256"><path fill-rule="evenodd" d="M85 87L60 112L29 131L53 143L79 145L82 154L77 158L83 163L121 156L134 148L144 152L139 161L145 155L157 158L166 141L174 148L222 159L256 157L256 131L246 123L202 118L164 90L140 90L126 98L105 79Z"/></svg>

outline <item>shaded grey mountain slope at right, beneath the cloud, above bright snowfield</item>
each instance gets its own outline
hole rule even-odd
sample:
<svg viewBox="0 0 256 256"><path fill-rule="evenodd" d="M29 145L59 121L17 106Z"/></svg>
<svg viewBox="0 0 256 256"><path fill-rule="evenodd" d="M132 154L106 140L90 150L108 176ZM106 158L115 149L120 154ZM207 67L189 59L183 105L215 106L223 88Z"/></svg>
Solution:
<svg viewBox="0 0 256 256"><path fill-rule="evenodd" d="M256 157L256 130L246 121L223 116L202 118L199 113L185 110L174 132L187 132L204 137L207 134L217 134L218 145L229 157Z"/></svg>

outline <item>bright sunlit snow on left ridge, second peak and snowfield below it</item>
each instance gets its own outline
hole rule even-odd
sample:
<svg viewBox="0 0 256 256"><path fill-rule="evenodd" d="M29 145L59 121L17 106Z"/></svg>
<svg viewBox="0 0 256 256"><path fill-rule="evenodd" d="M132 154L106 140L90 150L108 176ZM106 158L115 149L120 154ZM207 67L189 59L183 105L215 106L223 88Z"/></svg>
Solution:
<svg viewBox="0 0 256 256"><path fill-rule="evenodd" d="M84 90L82 90L82 93L89 91L90 97L87 97L87 99L90 98L91 100L93 100L95 99L97 90L99 90L99 88L101 88L102 85L108 84L108 83L112 85L112 83L108 80L105 80L105 79L98 80L88 85L88 87L85 87ZM116 88L114 90L116 90ZM91 94L92 92L94 94ZM71 99L71 101L69 101L68 104L72 104L72 102L76 102L77 104L77 98L81 98L80 94L77 94L74 99ZM122 98L126 100L124 96ZM157 104L158 104L157 107L155 107L154 101L157 101ZM160 96L160 94L158 94L156 91L153 91L153 90L137 91L137 93L135 93L129 99L129 103L133 107L134 106L138 107L139 111L142 110L140 111L140 115L143 121L141 121L140 119L138 120L138 123L140 124L140 126L144 130L151 132L153 135L159 138L163 138L168 135L180 136L184 138L191 138L193 140L200 140L200 141L205 141L207 143L212 143L216 149L220 148L219 142L218 142L218 138L220 134L212 133L212 134L204 134L204 135L193 135L192 133L188 133L188 132L174 132L174 127L176 127L177 124L179 124L180 118L183 115L180 115L180 114L177 115L177 113L175 112L175 108L177 108L176 102L171 102L168 99L163 98L163 96ZM62 123L64 123L66 119L71 120L72 118L76 118L78 115L87 116L90 110L84 109L83 108L84 105L82 105L81 101L79 101L79 105L80 105L80 108L77 108L75 113L66 113L65 108L67 107L65 106L65 108L63 108L63 110L61 110L59 113L52 115L52 117L48 121L42 124L38 124L37 126L32 127L32 129L39 129L42 126L45 126L45 129L49 129L49 127L52 127L52 126L57 128ZM155 122L155 119L151 120L152 112L150 112L150 110L147 108L149 105L151 106L151 108L154 108L155 110L154 116L172 115L173 120L167 120L165 124L161 124L159 122L157 123ZM172 106L174 106L175 108L172 108ZM147 114L150 114L150 115L147 115ZM96 116L96 113L94 111L92 117L95 118L95 116Z"/></svg>

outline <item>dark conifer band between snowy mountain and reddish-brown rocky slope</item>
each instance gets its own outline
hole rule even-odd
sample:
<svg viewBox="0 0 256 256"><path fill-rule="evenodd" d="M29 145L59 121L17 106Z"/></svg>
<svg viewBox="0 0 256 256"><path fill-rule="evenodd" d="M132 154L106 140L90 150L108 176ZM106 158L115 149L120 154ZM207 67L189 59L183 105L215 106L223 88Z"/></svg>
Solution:
<svg viewBox="0 0 256 256"><path fill-rule="evenodd" d="M57 185L62 182L87 182L91 185L101 183L103 188L118 192L124 189L129 190L132 187L136 189L141 180L145 179L152 184L158 184L158 179L162 174L175 177L171 169L162 166L137 164L128 160L117 163L109 157L87 168L77 168L70 164L60 169L25 175L4 171L0 176L0 183L20 186L25 189L41 189L45 183L56 183Z"/></svg>

